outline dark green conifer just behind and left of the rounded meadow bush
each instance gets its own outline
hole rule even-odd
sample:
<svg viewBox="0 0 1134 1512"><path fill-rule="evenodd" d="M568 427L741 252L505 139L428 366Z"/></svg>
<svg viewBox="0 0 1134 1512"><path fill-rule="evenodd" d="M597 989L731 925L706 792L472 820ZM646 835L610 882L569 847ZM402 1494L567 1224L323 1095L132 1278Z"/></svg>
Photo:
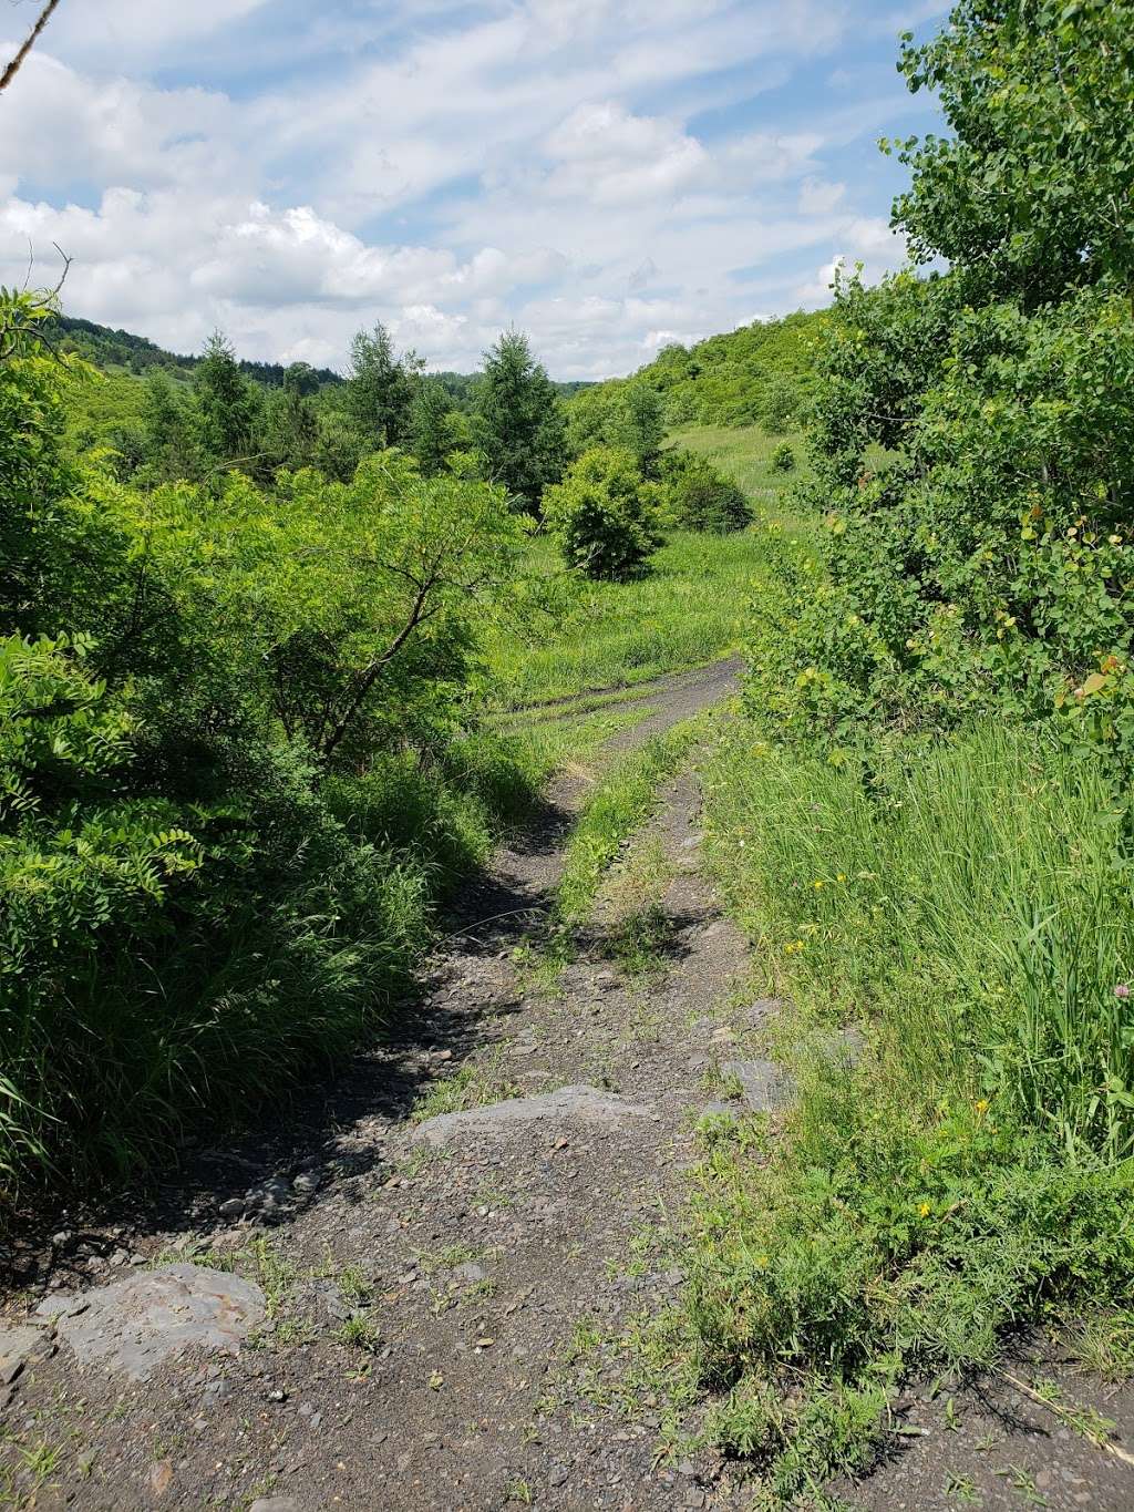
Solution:
<svg viewBox="0 0 1134 1512"><path fill-rule="evenodd" d="M475 437L488 476L538 510L543 490L562 476L567 437L555 386L519 331L505 331L484 355Z"/></svg>

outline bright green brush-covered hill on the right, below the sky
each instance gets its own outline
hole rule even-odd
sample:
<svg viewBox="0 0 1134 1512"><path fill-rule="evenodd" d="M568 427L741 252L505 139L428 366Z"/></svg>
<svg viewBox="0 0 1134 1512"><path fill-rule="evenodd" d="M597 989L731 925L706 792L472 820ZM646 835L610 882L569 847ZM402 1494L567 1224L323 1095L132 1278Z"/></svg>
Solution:
<svg viewBox="0 0 1134 1512"><path fill-rule="evenodd" d="M694 346L673 343L632 380L612 378L591 387L573 405L576 423L620 402L627 383L655 389L670 425L751 425L779 429L807 401L818 337L829 311L797 311L783 319L753 321L736 331L709 336Z"/></svg>

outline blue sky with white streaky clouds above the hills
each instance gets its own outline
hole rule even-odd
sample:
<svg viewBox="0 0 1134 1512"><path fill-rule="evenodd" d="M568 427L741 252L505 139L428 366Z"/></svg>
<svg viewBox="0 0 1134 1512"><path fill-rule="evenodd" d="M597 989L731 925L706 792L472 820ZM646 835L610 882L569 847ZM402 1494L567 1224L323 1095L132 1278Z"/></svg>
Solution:
<svg viewBox="0 0 1134 1512"><path fill-rule="evenodd" d="M62 0L0 101L0 281L57 242L71 313L178 351L340 366L384 321L469 370L514 324L555 376L631 372L901 265L875 142L939 129L895 59L945 12Z"/></svg>

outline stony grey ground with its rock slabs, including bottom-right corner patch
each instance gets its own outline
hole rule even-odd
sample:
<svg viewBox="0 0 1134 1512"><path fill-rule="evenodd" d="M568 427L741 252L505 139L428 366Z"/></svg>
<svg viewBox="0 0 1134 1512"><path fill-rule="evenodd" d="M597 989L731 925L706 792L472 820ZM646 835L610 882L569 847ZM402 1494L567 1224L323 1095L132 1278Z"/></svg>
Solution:
<svg viewBox="0 0 1134 1512"><path fill-rule="evenodd" d="M653 685L611 754L733 679ZM467 889L396 1037L286 1128L200 1149L156 1196L65 1214L12 1256L11 1504L751 1504L738 1467L659 1445L662 1403L621 1391L612 1341L679 1293L656 1232L683 1201L697 1119L729 1090L762 1108L789 1095L758 1052L776 1004L700 874L691 776L558 969L532 950L590 782L564 776ZM948 1408L912 1396L909 1448L845 1501L1134 1506L1120 1442L1101 1450L1001 1387ZM1134 1424L1128 1394L1098 1405Z"/></svg>

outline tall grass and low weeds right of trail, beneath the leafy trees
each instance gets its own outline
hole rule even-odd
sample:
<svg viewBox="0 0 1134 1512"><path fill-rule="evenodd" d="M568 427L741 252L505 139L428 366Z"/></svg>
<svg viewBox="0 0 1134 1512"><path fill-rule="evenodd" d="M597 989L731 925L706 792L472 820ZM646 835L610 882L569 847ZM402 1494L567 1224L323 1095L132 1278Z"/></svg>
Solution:
<svg viewBox="0 0 1134 1512"><path fill-rule="evenodd" d="M703 770L706 853L789 999L798 1096L774 1139L706 1131L647 1359L776 1506L862 1467L900 1382L995 1367L1021 1325L1129 1368L1134 913L1098 768L1034 732L842 765L754 736ZM847 1022L857 1064L821 1049Z"/></svg>

